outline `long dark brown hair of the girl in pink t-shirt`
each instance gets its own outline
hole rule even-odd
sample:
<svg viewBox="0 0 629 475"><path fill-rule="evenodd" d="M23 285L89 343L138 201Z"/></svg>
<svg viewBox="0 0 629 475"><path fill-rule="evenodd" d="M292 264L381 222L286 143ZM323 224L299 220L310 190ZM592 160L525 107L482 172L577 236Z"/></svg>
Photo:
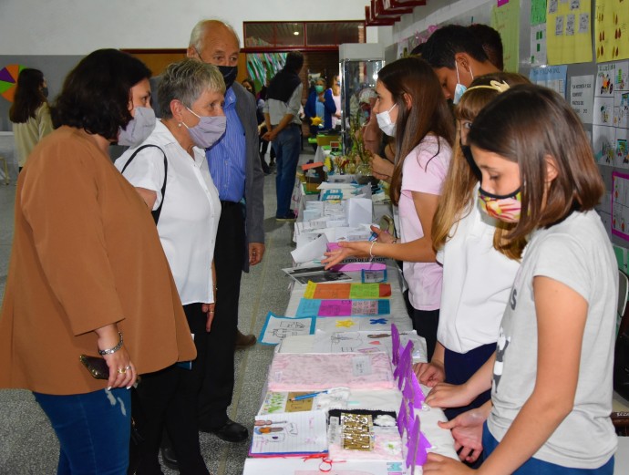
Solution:
<svg viewBox="0 0 629 475"><path fill-rule="evenodd" d="M378 80L384 84L397 104L396 166L391 177L391 201L397 204L407 155L428 133L442 137L451 146L454 126L438 78L423 59L397 59L380 69ZM405 95L412 99L410 108L407 108Z"/></svg>

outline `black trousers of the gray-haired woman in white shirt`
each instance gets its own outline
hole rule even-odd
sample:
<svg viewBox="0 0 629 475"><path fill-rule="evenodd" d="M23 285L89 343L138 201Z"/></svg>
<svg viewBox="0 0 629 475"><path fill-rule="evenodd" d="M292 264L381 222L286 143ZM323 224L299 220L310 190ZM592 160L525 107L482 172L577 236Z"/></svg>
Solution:
<svg viewBox="0 0 629 475"><path fill-rule="evenodd" d="M197 400L205 372L207 315L201 312L201 304L183 305L183 310L194 335L197 359L191 369L173 365L142 375L138 386L142 412L139 433L145 440L139 444L139 475L161 474L158 453L164 427L177 454L180 473L208 473L201 457L197 418Z"/></svg>

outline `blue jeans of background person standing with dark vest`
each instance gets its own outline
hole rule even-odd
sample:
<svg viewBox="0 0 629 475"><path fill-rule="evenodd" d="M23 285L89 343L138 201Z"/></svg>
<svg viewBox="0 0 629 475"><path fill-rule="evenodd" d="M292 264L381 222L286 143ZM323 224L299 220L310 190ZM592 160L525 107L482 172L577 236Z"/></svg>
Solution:
<svg viewBox="0 0 629 475"><path fill-rule="evenodd" d="M301 139L299 126L291 124L281 130L276 139L273 140L277 170L275 177L275 193L277 195L275 217L277 218L284 218L291 211L295 173L299 152L302 149Z"/></svg>

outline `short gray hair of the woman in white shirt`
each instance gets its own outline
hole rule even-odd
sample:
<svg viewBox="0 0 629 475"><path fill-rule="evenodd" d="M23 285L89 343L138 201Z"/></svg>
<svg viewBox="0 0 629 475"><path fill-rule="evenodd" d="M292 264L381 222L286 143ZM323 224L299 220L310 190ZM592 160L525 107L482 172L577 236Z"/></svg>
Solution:
<svg viewBox="0 0 629 475"><path fill-rule="evenodd" d="M173 99L191 108L205 90L225 94L225 81L218 67L187 57L166 68L158 87L161 118L171 119Z"/></svg>

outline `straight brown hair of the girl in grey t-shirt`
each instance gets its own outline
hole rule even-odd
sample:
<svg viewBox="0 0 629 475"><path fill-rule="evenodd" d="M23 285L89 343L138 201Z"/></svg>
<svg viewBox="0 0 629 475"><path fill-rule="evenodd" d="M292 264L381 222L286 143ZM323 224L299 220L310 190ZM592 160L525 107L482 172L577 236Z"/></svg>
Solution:
<svg viewBox="0 0 629 475"><path fill-rule="evenodd" d="M603 180L581 120L551 89L519 85L500 94L474 121L469 143L519 165L521 218L510 242L601 200ZM557 170L550 184L549 160Z"/></svg>

